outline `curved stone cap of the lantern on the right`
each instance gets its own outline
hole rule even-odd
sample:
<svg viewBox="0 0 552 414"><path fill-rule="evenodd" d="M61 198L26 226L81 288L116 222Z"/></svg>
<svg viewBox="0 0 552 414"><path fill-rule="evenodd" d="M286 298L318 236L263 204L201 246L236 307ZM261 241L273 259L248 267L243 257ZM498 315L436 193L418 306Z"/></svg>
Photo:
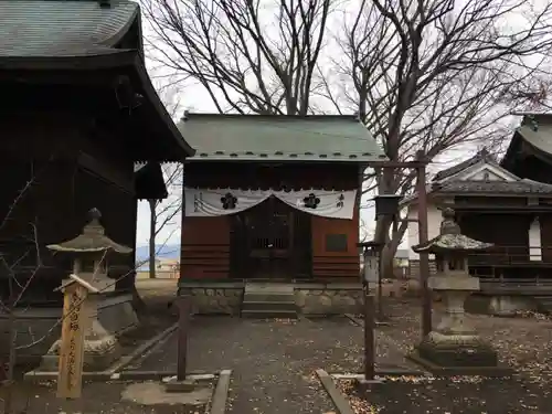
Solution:
<svg viewBox="0 0 552 414"><path fill-rule="evenodd" d="M416 253L454 253L474 252L492 247L492 243L481 242L461 234L460 226L454 220L454 210L450 208L443 210L443 222L440 223L439 235L412 247Z"/></svg>

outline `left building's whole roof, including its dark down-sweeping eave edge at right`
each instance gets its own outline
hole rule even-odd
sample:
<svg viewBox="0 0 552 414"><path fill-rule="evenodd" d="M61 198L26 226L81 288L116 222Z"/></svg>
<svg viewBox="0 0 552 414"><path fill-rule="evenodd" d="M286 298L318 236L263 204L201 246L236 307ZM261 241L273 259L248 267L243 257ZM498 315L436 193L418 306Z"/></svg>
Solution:
<svg viewBox="0 0 552 414"><path fill-rule="evenodd" d="M129 0L0 0L0 68L50 73L118 68L109 72L114 79L130 74L146 98L142 110L155 121L148 136L151 147L162 148L163 161L179 161L194 150L147 74L139 17L139 6Z"/></svg>

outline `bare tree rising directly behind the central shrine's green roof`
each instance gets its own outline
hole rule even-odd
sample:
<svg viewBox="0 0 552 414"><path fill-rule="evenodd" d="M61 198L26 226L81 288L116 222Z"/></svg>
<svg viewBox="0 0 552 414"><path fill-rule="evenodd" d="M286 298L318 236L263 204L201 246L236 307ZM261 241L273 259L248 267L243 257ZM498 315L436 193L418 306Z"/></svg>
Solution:
<svg viewBox="0 0 552 414"><path fill-rule="evenodd" d="M330 0L141 3L156 33L151 57L199 82L220 113L311 110Z"/></svg>

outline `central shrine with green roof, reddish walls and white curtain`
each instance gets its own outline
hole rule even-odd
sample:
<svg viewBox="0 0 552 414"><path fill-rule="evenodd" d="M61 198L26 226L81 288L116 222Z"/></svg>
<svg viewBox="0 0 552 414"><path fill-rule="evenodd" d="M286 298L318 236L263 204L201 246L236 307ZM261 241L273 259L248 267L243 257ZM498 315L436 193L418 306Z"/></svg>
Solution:
<svg viewBox="0 0 552 414"><path fill-rule="evenodd" d="M385 159L353 116L187 114L181 280L359 280L362 173Z"/></svg>

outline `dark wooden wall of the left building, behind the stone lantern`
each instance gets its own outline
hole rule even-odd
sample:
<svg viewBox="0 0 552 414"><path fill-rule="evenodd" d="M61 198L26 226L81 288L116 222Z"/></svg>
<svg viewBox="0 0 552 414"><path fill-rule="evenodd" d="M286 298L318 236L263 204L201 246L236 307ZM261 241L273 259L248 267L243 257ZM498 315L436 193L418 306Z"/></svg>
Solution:
<svg viewBox="0 0 552 414"><path fill-rule="evenodd" d="M52 294L53 289L46 284L51 282L53 286L59 286L68 270L67 255L54 257L45 245L76 236L86 224L91 208L100 210L102 223L109 236L121 244L135 246L134 162L120 151L120 142L114 139L113 132L93 131L92 125L89 115L70 112L26 112L0 116L0 127L7 131L6 153L0 167L0 171L4 172L0 191L0 224L6 224L0 226L0 250L9 256L9 261L26 252L24 262L17 261L21 267L21 270L18 269L21 273L19 282L23 283L28 277L25 275L32 275L30 269L36 268L32 234L36 230L43 267L34 277L36 283L31 283L26 290L28 296L35 300L60 296ZM93 155L94 161L98 161L100 171L96 172L102 178L91 176L78 167L81 151ZM120 184L113 185L109 180L114 176L112 172L125 178L124 189ZM12 208L14 201L17 205ZM10 216L4 222L8 212ZM132 269L134 254L116 255L109 264ZM128 276L117 287L125 288L123 285L128 287L132 283L134 277Z"/></svg>

